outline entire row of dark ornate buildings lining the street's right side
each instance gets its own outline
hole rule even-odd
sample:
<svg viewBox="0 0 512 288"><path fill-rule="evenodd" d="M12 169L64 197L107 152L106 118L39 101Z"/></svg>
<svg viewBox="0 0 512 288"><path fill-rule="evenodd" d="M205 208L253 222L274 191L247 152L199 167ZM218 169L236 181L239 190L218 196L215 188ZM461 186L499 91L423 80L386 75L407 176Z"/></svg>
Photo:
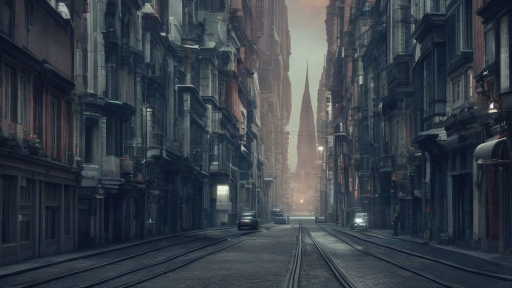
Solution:
<svg viewBox="0 0 512 288"><path fill-rule="evenodd" d="M332 97L330 127L347 123L350 131L349 209L368 212L374 228L391 228L399 211L400 229L412 236L510 253L510 3L344 5L343 68L323 78L344 87ZM347 122L336 116L344 106ZM326 159L336 163L343 155L332 150Z"/></svg>

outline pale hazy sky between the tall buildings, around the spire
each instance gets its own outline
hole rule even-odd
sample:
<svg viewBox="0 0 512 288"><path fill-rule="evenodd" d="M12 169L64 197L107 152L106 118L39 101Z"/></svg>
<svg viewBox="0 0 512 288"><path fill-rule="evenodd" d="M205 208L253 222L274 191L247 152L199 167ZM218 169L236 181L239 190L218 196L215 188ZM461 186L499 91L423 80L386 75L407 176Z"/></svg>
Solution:
<svg viewBox="0 0 512 288"><path fill-rule="evenodd" d="M286 0L288 23L291 34L290 79L292 108L290 125L290 146L288 157L290 169L297 165L297 133L301 115L302 94L306 80L306 61L309 61L309 92L313 114L316 117L316 95L318 81L327 51L325 17L329 0ZM316 125L316 118L315 118Z"/></svg>

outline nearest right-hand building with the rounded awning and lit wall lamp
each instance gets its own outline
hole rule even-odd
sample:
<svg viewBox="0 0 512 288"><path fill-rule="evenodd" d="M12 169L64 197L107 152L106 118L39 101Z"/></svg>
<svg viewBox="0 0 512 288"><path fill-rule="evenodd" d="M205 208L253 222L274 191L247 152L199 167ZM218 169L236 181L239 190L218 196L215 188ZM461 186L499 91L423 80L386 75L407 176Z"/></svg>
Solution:
<svg viewBox="0 0 512 288"><path fill-rule="evenodd" d="M512 3L475 0L473 11L476 12L473 22L476 84L473 89L478 95L478 108L485 116L480 121L483 143L476 148L472 161L475 183L472 239L479 241L482 251L510 255L512 71L509 35Z"/></svg>

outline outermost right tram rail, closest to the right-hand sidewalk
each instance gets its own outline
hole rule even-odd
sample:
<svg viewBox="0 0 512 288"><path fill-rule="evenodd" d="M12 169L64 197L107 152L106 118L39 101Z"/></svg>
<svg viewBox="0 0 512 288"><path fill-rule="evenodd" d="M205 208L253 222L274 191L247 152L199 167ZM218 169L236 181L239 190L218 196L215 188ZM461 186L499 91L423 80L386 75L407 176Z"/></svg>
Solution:
<svg viewBox="0 0 512 288"><path fill-rule="evenodd" d="M329 227L331 227L331 226L329 225ZM453 268L457 268L457 269L460 269L460 270L463 270L463 271L466 271L466 272L470 272L470 273L474 273L474 274L479 274L479 275L483 275L483 276L487 276L487 277L491 277L491 278L495 278L495 279L499 279L499 280L503 280L503 281L512 282L512 276L508 276L508 275L504 275L504 274L499 274L499 273L485 272L485 271L476 270L476 269L472 269L472 268L467 268L467 267L461 266L459 264L455 264L453 262L437 259L437 258L434 258L434 257L430 257L430 256L422 255L422 254L419 254L419 253L415 253L415 252L412 252L412 251L409 251L409 250L400 249L400 248L397 248L395 246L391 246L391 245L387 245L387 244L378 243L378 242L375 242L375 241L372 241L372 240L368 240L368 239L356 236L356 235L354 235L352 233L348 233L348 232L345 232L345 231L342 231L342 230L334 229L333 227L331 227L331 229L335 230L335 231L338 231L340 233L344 233L344 234L350 235L350 236L352 236L354 238L357 238L359 240L370 242L370 243L373 243L373 244L376 244L376 245L379 245L379 246L382 246L382 247L385 247L385 248L388 248L388 249L392 249L392 250L395 250L395 251L398 251L398 252L402 252L402 253L405 253L405 254L416 256L416 257L423 258L423 259L426 259L426 260L430 260L430 261L434 261L434 262L437 262L437 263L441 263L441 264L444 264L444 265L447 265L447 266L451 266ZM361 234L368 235L368 234L364 234L362 232L361 232ZM372 236L372 235L369 235L369 236ZM373 237L376 237L376 236L373 236ZM387 237L387 238L388 239L395 239L395 238L389 238L389 237ZM406 241L406 240L404 240L404 241ZM414 243L412 241L407 241L407 242ZM424 245L424 244L420 244L420 243L416 243L416 244ZM458 253L458 252L456 252L456 253Z"/></svg>

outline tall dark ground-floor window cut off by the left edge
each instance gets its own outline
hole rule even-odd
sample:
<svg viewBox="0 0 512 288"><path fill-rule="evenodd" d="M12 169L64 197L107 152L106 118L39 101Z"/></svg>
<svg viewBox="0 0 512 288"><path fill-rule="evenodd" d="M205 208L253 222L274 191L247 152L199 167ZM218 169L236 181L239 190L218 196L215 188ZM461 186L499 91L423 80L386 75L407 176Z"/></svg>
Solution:
<svg viewBox="0 0 512 288"><path fill-rule="evenodd" d="M15 204L17 176L2 175L2 244L13 243L15 233Z"/></svg>

